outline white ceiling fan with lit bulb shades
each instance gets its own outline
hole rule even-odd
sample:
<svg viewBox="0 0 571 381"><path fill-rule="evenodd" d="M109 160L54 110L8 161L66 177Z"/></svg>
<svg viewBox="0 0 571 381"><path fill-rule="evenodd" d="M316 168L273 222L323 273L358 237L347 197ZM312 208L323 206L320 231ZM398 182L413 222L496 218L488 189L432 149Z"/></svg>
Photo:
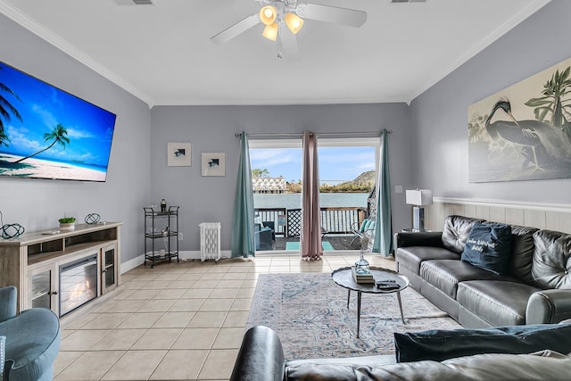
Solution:
<svg viewBox="0 0 571 381"><path fill-rule="evenodd" d="M331 22L359 28L367 21L367 13L356 9L331 5L300 3L298 0L254 0L260 3L260 12L252 13L236 24L211 37L214 43L225 43L251 29L259 22L266 27L263 37L278 42L277 56L282 52L296 58L300 55L295 35L303 27L303 19Z"/></svg>

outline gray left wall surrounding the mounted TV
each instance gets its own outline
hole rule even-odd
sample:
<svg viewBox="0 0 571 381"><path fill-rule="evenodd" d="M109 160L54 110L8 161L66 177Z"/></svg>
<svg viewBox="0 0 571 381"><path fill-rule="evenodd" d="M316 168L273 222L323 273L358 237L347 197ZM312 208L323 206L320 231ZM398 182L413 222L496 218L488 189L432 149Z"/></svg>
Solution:
<svg viewBox="0 0 571 381"><path fill-rule="evenodd" d="M122 261L143 253L142 205L151 194L148 106L43 39L0 15L0 58L7 64L117 114L105 183L0 178L4 224L28 231L56 228L66 211L123 221Z"/></svg>

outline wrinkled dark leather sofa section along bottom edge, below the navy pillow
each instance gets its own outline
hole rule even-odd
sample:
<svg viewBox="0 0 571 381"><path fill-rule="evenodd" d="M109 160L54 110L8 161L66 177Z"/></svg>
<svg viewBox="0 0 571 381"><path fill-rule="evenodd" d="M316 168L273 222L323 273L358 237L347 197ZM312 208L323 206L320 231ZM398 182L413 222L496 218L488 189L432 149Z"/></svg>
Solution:
<svg viewBox="0 0 571 381"><path fill-rule="evenodd" d="M425 360L373 368L358 363L331 365L307 362L286 367L284 380L567 380L569 372L571 359L568 356L542 351L531 354L478 354L443 362Z"/></svg>

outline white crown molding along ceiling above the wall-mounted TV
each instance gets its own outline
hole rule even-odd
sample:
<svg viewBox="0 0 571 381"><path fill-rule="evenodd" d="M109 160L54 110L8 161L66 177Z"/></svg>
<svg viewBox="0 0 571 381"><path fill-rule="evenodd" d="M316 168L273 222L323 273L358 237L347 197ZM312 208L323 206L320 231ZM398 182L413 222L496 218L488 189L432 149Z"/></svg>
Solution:
<svg viewBox="0 0 571 381"><path fill-rule="evenodd" d="M146 95L137 87L133 86L128 81L115 74L112 70L109 70L101 63L95 61L95 59L79 50L76 46L71 45L68 41L56 35L50 29L47 29L43 25L39 24L37 21L30 18L27 14L21 12L20 9L14 7L12 4L8 4L4 0L0 0L0 12L2 12L7 18L20 24L23 28L28 29L37 37L46 40L47 43L55 46L63 53L68 54L70 57L83 63L89 69L94 70L96 73L103 76L103 78L109 79L118 87L121 87L131 95L136 96L138 99L145 102L145 104L148 104L149 108L153 106L153 101L150 96Z"/></svg>

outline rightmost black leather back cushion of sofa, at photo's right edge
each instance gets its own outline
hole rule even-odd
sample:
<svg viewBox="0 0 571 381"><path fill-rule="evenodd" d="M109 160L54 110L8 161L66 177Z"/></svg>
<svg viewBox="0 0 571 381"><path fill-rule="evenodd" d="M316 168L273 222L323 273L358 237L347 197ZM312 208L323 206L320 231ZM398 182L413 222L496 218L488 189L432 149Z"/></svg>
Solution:
<svg viewBox="0 0 571 381"><path fill-rule="evenodd" d="M543 288L571 288L571 236L551 230L534 233L532 278Z"/></svg>

